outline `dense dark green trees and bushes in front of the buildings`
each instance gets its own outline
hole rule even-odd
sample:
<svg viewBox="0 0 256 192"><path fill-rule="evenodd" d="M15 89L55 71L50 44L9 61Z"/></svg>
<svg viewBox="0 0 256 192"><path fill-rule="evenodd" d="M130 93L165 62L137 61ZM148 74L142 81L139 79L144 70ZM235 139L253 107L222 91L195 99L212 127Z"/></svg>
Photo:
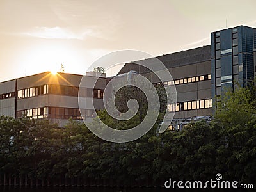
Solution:
<svg viewBox="0 0 256 192"><path fill-rule="evenodd" d="M38 179L86 177L127 185L163 185L163 180L225 180L256 183L255 90L239 88L222 97L211 123L192 122L181 132L157 134L158 122L136 141L109 143L79 122L64 129L48 121L0 117L0 173ZM164 111L163 111L164 113ZM131 129L140 116L116 124L106 111L98 115L116 129Z"/></svg>

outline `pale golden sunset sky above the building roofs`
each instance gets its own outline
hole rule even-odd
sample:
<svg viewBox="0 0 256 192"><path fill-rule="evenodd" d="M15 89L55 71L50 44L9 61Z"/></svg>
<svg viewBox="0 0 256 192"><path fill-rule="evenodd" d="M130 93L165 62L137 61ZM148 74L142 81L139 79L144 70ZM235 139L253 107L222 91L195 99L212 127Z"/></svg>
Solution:
<svg viewBox="0 0 256 192"><path fill-rule="evenodd" d="M0 81L45 71L84 74L104 54L154 56L210 44L210 33L256 27L256 1L0 0Z"/></svg>

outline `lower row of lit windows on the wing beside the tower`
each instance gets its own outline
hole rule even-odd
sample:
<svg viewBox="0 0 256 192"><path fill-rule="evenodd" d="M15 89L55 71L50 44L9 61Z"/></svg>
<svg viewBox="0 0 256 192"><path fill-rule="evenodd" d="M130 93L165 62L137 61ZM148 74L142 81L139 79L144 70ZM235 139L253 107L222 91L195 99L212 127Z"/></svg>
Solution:
<svg viewBox="0 0 256 192"><path fill-rule="evenodd" d="M168 112L188 111L205 108L212 108L212 99L193 100L176 104L168 104Z"/></svg>

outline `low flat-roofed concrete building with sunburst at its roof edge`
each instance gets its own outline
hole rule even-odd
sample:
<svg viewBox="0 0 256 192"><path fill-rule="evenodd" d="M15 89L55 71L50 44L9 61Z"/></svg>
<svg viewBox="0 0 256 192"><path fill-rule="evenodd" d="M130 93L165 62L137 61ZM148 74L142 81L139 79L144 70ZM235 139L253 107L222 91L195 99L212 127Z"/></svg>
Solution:
<svg viewBox="0 0 256 192"><path fill-rule="evenodd" d="M95 116L93 106L79 111L78 90L81 75L44 72L0 83L0 115L19 118L22 115L35 119L48 118L60 127L67 124L69 118L83 120ZM100 77L95 88L86 76L83 97L86 102L96 100L96 109L103 108L103 92L107 79ZM88 80L87 80L88 79ZM90 103L90 102L88 102Z"/></svg>

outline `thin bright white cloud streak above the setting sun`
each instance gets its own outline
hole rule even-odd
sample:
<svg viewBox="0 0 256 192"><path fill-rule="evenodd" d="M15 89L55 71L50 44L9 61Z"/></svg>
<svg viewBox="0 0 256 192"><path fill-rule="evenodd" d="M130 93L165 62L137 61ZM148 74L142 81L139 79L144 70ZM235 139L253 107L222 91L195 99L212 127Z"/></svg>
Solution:
<svg viewBox="0 0 256 192"><path fill-rule="evenodd" d="M74 33L68 29L54 27L36 27L32 31L22 33L22 35L33 36L36 38L47 38L47 39L77 39L84 40L86 36L92 35L92 29L86 29L81 33Z"/></svg>

